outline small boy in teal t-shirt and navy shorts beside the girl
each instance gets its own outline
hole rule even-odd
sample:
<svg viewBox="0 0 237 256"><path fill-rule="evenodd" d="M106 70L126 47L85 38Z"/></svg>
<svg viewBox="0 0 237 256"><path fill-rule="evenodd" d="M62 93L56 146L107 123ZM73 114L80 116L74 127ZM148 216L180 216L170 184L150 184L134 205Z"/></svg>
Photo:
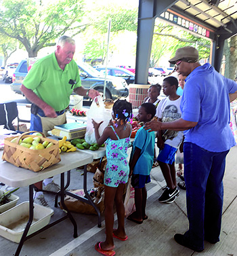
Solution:
<svg viewBox="0 0 237 256"><path fill-rule="evenodd" d="M156 107L154 104L143 103L139 107L137 120L146 124L146 122L152 120L155 114ZM133 149L129 161L129 177L131 177L131 185L135 190L136 211L127 217L127 219L137 224L142 224L145 219L148 219L146 215L147 192L145 184L150 183L150 171L152 170L154 158L154 145L154 132L148 132L147 130L144 130L144 127L139 128L133 141Z"/></svg>

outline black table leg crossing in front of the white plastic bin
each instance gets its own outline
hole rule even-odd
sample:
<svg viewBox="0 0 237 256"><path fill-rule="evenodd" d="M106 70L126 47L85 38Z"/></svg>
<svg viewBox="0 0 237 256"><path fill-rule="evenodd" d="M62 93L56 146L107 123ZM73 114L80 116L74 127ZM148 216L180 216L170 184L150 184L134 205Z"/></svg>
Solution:
<svg viewBox="0 0 237 256"><path fill-rule="evenodd" d="M29 186L29 219L26 224L26 227L24 229L24 232L22 234L22 238L20 239L20 243L18 244L18 248L16 249L15 256L20 255L20 251L22 250L22 246L24 244L24 241L26 240L26 236L28 234L28 230L30 229L30 225L33 221L34 217L34 200L33 200L33 191L34 191L34 185Z"/></svg>

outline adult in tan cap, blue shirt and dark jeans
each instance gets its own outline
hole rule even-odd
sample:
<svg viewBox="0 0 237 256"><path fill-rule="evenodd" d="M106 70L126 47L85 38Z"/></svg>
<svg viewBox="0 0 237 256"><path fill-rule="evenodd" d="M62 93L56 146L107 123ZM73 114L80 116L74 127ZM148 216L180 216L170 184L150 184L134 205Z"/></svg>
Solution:
<svg viewBox="0 0 237 256"><path fill-rule="evenodd" d="M151 130L184 130L184 179L189 229L175 241L194 251L204 250L204 240L219 242L223 206L225 158L236 145L230 129L230 102L237 97L235 81L223 77L209 63L200 66L198 51L179 48L169 60L186 75L181 118L173 122L146 123Z"/></svg>

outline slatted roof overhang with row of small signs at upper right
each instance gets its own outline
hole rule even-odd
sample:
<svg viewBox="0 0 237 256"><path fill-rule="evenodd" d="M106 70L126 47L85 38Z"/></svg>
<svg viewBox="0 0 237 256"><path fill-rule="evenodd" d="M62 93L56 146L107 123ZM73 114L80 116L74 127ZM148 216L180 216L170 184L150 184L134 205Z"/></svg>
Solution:
<svg viewBox="0 0 237 256"><path fill-rule="evenodd" d="M160 14L160 18L167 20L165 15L173 17L173 22L178 26L213 40L216 35L225 35L228 38L237 33L236 0L173 1L173 4Z"/></svg>

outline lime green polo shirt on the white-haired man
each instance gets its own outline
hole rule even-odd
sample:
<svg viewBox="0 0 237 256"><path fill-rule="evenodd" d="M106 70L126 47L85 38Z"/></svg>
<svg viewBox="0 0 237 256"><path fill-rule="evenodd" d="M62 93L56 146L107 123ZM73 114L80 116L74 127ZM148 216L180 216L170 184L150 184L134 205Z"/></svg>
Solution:
<svg viewBox="0 0 237 256"><path fill-rule="evenodd" d="M72 86L69 84L70 79L77 83ZM61 111L68 107L72 91L81 86L81 78L74 60L62 70L53 52L34 63L23 84L55 111Z"/></svg>

